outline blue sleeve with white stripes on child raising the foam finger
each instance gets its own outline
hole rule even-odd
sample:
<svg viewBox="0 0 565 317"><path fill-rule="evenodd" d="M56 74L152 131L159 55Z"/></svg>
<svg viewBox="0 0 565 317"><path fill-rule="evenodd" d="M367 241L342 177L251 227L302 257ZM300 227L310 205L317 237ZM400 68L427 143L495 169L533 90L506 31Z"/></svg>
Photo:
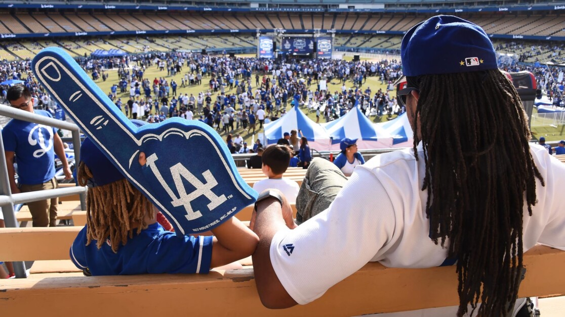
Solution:
<svg viewBox="0 0 565 317"><path fill-rule="evenodd" d="M147 273L200 273L210 271L212 236L165 233L147 246Z"/></svg>

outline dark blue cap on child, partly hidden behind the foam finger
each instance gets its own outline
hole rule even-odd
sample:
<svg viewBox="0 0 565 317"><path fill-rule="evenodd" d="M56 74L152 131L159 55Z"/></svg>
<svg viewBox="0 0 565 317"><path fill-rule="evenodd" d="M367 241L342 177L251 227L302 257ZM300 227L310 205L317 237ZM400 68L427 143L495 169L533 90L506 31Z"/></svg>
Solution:
<svg viewBox="0 0 565 317"><path fill-rule="evenodd" d="M141 127L146 122L132 120L132 123L136 127ZM92 182L93 186L103 186L125 178L89 137L84 139L80 146L80 160L90 169L93 178L90 178L89 183Z"/></svg>

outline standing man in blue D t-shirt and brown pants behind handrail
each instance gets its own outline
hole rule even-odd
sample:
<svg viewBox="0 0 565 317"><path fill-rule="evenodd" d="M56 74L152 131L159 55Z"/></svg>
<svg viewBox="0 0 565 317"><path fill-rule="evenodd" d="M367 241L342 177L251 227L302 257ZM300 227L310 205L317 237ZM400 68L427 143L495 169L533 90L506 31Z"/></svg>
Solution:
<svg viewBox="0 0 565 317"><path fill-rule="evenodd" d="M14 108L52 118L47 111L33 109L31 92L23 85L10 87L7 99ZM63 141L57 134L56 128L12 119L2 130L2 139L12 194L57 188L55 153L63 163L65 178L72 177ZM18 185L14 177L14 163L18 163ZM33 226L55 226L57 204L57 198L28 203Z"/></svg>

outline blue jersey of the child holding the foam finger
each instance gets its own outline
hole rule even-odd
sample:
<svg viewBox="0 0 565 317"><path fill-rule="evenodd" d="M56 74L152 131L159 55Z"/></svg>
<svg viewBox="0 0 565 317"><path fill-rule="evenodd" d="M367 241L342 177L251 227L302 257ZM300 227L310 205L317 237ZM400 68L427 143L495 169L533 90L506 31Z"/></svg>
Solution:
<svg viewBox="0 0 565 317"><path fill-rule="evenodd" d="M86 226L71 245L71 260L92 275L131 275L159 273L201 273L210 271L212 236L184 236L166 231L158 223L140 234L134 231L117 253L110 239L100 249L96 240L86 245Z"/></svg>

